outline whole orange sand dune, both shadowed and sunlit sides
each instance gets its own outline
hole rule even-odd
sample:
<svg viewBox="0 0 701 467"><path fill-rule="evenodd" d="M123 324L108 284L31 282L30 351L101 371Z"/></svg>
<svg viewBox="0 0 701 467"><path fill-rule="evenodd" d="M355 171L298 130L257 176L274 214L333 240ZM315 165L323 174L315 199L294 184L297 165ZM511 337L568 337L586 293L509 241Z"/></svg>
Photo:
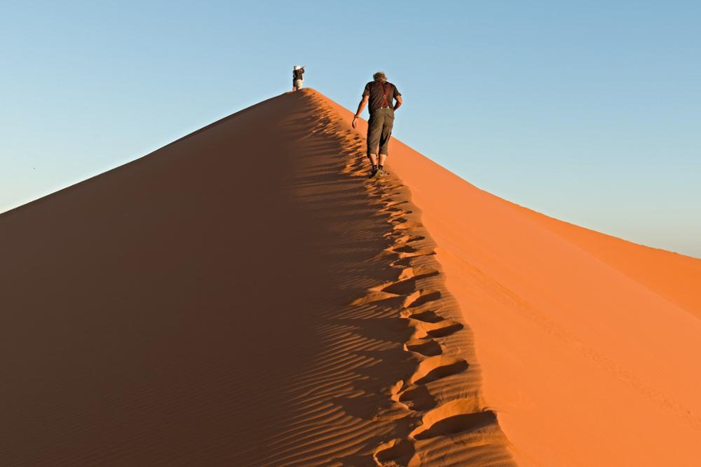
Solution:
<svg viewBox="0 0 701 467"><path fill-rule="evenodd" d="M350 119L287 93L0 215L0 465L699 464L700 260L396 140L368 181Z"/></svg>

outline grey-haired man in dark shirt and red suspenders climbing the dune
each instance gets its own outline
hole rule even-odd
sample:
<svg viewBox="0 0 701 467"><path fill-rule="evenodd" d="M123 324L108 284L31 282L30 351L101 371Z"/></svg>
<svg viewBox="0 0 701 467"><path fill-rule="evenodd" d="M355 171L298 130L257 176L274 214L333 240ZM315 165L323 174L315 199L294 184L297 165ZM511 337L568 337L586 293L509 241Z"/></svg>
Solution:
<svg viewBox="0 0 701 467"><path fill-rule="evenodd" d="M369 102L370 119L367 121L367 156L372 162L370 178L381 177L385 172L387 147L392 135L395 110L402 105L402 94L397 86L387 81L384 72L372 75L374 81L365 85L358 111L353 116L353 128L358 123L365 105ZM393 104L393 101L397 101ZM378 151L379 147L379 151ZM378 158L379 155L379 158Z"/></svg>

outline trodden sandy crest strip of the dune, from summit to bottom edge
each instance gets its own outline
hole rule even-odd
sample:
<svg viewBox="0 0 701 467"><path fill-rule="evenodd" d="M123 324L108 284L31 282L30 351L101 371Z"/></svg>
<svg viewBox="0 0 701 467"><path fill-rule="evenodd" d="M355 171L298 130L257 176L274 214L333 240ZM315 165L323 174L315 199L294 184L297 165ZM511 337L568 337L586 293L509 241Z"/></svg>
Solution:
<svg viewBox="0 0 701 467"><path fill-rule="evenodd" d="M348 151L342 172L362 180L368 168L365 138L344 128L345 119L325 99L309 96L331 119L323 131L332 131ZM395 271L396 280L369 287L352 304L363 314L393 318L390 327L407 330L403 348L414 362L411 374L390 386L395 405L386 409L397 411L393 417L407 412L408 424L399 431L408 433L382 442L373 459L378 466L512 464L496 413L484 406L479 393L470 330L445 286L435 259L437 245L411 203L409 188L393 174L364 185L372 206L386 217L383 236L391 243L380 257Z"/></svg>

